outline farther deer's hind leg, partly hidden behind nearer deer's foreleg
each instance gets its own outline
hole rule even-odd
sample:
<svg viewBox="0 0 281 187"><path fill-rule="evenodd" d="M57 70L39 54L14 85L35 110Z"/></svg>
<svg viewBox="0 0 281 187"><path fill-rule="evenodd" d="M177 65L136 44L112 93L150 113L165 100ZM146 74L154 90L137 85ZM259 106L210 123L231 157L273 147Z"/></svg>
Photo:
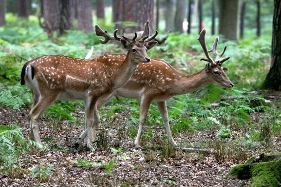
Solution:
<svg viewBox="0 0 281 187"><path fill-rule="evenodd" d="M113 96L114 96L114 94L111 94L109 97L99 98L98 101L97 101L97 110L99 110L104 105L104 103L106 103L108 100L110 100ZM93 120L94 120L94 122L93 122L94 124L99 123L99 122L95 121L96 120L95 118ZM96 138L96 128L93 127L92 131L93 131L92 132L93 141L96 141L97 140L97 138ZM87 128L85 128L85 131L79 136L79 138L74 143L74 148L77 149L80 146L80 144L82 143L82 141L85 139L86 136L87 136Z"/></svg>

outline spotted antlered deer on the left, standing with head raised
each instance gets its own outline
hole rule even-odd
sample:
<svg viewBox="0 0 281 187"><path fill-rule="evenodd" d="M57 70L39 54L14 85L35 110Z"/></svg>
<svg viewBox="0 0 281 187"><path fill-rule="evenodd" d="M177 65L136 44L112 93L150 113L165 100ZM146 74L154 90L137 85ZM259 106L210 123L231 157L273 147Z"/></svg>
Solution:
<svg viewBox="0 0 281 187"><path fill-rule="evenodd" d="M95 151L95 125L99 122L97 101L107 98L116 89L123 86L136 71L141 63L149 63L151 58L146 51L152 49L157 41L152 41L158 32L151 37L142 36L136 41L137 33L133 38L114 35L95 26L96 34L103 36L101 44L109 40L120 41L127 49L122 63L112 66L106 61L117 60L116 55L104 55L100 59L85 60L59 55L45 55L28 61L22 69L21 85L28 86L32 91L32 109L29 112L31 139L41 142L39 124L41 114L58 100L83 100L85 102L85 127L87 129L87 148ZM120 57L121 59L121 57Z"/></svg>

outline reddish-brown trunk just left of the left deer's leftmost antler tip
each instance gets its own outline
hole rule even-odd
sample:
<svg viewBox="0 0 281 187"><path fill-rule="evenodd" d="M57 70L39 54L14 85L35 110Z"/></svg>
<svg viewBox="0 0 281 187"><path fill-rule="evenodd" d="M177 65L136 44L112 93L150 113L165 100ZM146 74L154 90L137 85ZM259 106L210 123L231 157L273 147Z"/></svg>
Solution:
<svg viewBox="0 0 281 187"><path fill-rule="evenodd" d="M89 33L93 31L92 27L92 6L90 0L78 0L78 30Z"/></svg>

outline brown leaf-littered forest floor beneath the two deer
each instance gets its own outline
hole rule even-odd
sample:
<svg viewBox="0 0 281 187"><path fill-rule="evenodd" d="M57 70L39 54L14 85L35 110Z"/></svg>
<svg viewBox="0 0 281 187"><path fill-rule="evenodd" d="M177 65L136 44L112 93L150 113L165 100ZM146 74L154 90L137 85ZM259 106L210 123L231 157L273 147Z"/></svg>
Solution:
<svg viewBox="0 0 281 187"><path fill-rule="evenodd" d="M73 116L84 118L83 109L79 110ZM26 138L29 138L28 112L29 109L22 108L21 112L14 111L12 115L12 121L22 128ZM123 111L116 115L118 118L101 120L97 134L100 134L98 138L103 138L105 147L93 153L73 148L74 142L83 131L83 122L73 124L68 121L48 120L43 116L40 119L40 133L43 142L48 144L48 150L34 153L31 151L21 156L17 164L24 170L16 172L14 177L0 174L0 186L248 186L251 183L250 180L238 180L227 175L237 163L231 155L235 153L229 153L226 157L220 155L218 150L215 154L176 151L163 144L164 127L149 126L153 130L153 137L142 142L145 149L134 149L134 139L128 136L128 126L125 126L129 113ZM253 120L258 115L255 113ZM0 108L0 124L8 123L9 120L9 109ZM231 142L245 135L246 131L247 129L235 131L232 138L224 141ZM190 147L205 149L214 148L212 142L220 142L214 130L181 133L175 135L175 140L181 145L185 142ZM161 144L162 151L156 149ZM122 147L122 150L118 150L118 147ZM163 152L164 148L170 153ZM223 147L219 149L226 151ZM241 159L245 161L247 157L255 154L275 151L281 151L280 134L273 137L269 148L255 147L241 152L245 154L245 158ZM220 159L222 156L224 159ZM79 159L84 159L85 163L85 160L90 162L85 164L82 160L84 164L79 165ZM108 173L105 172L105 163L113 164ZM51 165L51 176L33 178L28 171L38 164Z"/></svg>

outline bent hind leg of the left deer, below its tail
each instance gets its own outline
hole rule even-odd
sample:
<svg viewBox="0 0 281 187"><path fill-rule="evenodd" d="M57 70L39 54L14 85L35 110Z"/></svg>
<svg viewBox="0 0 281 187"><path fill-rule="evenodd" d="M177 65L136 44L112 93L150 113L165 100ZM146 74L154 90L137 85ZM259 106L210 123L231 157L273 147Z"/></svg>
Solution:
<svg viewBox="0 0 281 187"><path fill-rule="evenodd" d="M41 114L57 99L59 94L52 94L48 97L41 97L35 106L32 107L31 111L28 114L30 118L30 136L31 139L36 142L41 142L39 134L39 126L37 119Z"/></svg>

